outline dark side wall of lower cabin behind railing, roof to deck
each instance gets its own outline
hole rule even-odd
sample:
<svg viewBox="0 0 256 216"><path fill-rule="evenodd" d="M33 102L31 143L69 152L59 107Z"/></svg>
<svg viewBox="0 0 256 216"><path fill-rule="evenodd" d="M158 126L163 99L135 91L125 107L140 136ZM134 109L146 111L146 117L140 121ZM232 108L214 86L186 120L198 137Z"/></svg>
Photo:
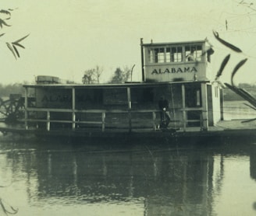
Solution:
<svg viewBox="0 0 256 216"><path fill-rule="evenodd" d="M105 113L105 127L127 127L129 125L129 115L127 110L131 110L133 127L153 127L153 112L155 112L156 123L160 121L158 113L158 100L165 96L169 100L170 112L176 113L176 118L181 118L182 113L173 110L182 106L181 86L179 85L156 85L130 88L130 101L128 102L128 92L126 88L79 88L75 89L76 121L101 122L102 112ZM50 114L51 120L72 120L71 110L73 109L72 89L59 89L50 87L35 88L36 108L42 111L37 112L37 119L46 120ZM175 102L175 103L173 103ZM45 109L60 109L58 112ZM66 112L70 110L70 112ZM81 110L81 112L80 112ZM84 110L86 112L84 112ZM137 110L139 112L137 112ZM151 111L148 111L151 110ZM81 124L86 127L89 124ZM122 126L123 125L123 126ZM39 123L39 127L46 127L46 123ZM51 123L54 127L71 127L68 123ZM100 124L91 127L101 127Z"/></svg>

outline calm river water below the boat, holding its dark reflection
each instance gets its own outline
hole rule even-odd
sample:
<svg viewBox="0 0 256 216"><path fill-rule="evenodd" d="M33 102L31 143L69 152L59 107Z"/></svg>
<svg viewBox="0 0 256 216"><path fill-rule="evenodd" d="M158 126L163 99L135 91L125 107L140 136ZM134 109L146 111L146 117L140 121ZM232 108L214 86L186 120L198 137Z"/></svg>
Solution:
<svg viewBox="0 0 256 216"><path fill-rule="evenodd" d="M1 196L19 215L255 213L252 144L0 146Z"/></svg>

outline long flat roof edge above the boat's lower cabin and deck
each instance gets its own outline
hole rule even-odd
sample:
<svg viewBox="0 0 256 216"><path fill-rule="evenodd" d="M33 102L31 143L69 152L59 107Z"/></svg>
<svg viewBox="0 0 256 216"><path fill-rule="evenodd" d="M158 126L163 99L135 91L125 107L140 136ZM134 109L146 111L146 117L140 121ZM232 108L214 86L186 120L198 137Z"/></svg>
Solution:
<svg viewBox="0 0 256 216"><path fill-rule="evenodd" d="M58 88L58 89L110 89L110 88L127 88L127 87L156 87L160 85L181 85L183 83L206 83L205 81L187 81L187 82L126 82L121 84L26 84L25 88Z"/></svg>

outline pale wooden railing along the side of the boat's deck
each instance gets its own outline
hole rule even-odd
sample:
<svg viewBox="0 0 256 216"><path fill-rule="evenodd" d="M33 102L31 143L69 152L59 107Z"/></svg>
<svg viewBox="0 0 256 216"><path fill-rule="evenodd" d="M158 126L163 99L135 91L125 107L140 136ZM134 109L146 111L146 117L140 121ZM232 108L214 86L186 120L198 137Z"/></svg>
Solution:
<svg viewBox="0 0 256 216"><path fill-rule="evenodd" d="M204 112L204 110L201 107L195 107L195 108L179 108L176 109L175 112L182 112L182 118L181 119L173 119L173 122L178 122L179 124L181 123L183 125L182 129L183 131L186 131L187 128L187 123L189 122L197 122L200 124L200 127L202 129L203 127L203 121L205 121L202 118L202 114L199 120L187 120L187 111L201 111L201 113ZM34 115L33 117L30 117L28 113L44 113L44 119L42 118L37 118L37 115ZM51 113L71 113L72 117L70 120L55 120L52 119ZM91 114L99 114L97 120L83 120L77 118L80 113L91 113ZM126 119L127 121L124 124L126 128L128 128L129 131L132 131L134 129L134 125L140 124L151 124L151 128L156 131L157 130L157 125L159 124L159 118L157 118L157 114L160 113L159 110L72 110L72 109L55 109L55 108L27 108L25 110L25 119L23 120L25 122L25 127L28 128L29 123L45 123L46 124L46 130L50 131L51 130L51 124L53 123L60 123L60 124L71 124L72 125L72 130L76 130L78 127L81 125L98 125L101 126L101 131L104 132L106 129L106 124L115 124L113 122L107 122L106 121L106 116L109 115L110 113L124 113L126 114ZM145 114L145 113L151 113L151 117L147 119L136 119L133 118L133 114ZM119 122L117 123L119 124Z"/></svg>

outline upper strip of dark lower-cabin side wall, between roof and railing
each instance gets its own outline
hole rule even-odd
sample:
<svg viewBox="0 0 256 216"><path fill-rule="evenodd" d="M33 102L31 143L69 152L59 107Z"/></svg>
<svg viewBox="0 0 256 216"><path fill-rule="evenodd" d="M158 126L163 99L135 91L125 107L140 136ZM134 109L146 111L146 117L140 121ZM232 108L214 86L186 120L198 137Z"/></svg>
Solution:
<svg viewBox="0 0 256 216"><path fill-rule="evenodd" d="M178 88L180 89L180 87ZM175 86L133 87L130 88L131 109L158 109L158 99L161 96L172 99ZM36 88L37 108L72 109L72 89ZM75 89L76 110L115 110L128 109L126 88L109 89ZM180 98L181 94L174 97ZM176 103L176 106L179 103Z"/></svg>

